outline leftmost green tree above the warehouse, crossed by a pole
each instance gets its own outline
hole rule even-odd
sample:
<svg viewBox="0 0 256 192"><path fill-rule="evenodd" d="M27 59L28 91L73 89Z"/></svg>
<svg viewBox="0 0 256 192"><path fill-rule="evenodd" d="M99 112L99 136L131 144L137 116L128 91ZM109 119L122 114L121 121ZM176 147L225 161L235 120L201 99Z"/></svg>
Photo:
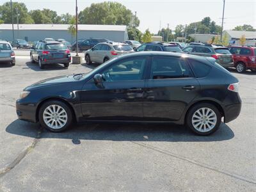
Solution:
<svg viewBox="0 0 256 192"><path fill-rule="evenodd" d="M17 12L19 13L19 23L20 24L32 24L34 20L28 14L28 8L24 3L13 2L13 17L15 21L17 21ZM0 19L4 21L4 23L12 23L12 12L10 2L4 3L0 6Z"/></svg>

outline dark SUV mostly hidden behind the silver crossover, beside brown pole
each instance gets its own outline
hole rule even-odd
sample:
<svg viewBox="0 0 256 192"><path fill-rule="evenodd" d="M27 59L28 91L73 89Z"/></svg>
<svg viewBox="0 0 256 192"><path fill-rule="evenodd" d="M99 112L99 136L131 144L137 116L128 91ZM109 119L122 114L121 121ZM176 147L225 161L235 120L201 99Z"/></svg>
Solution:
<svg viewBox="0 0 256 192"><path fill-rule="evenodd" d="M106 38L90 38L83 40L83 42L78 41L78 52L87 51L88 49L91 49L94 47L94 45L97 45L99 43L103 42L111 42L110 40ZM76 42L72 45L72 51L76 51Z"/></svg>

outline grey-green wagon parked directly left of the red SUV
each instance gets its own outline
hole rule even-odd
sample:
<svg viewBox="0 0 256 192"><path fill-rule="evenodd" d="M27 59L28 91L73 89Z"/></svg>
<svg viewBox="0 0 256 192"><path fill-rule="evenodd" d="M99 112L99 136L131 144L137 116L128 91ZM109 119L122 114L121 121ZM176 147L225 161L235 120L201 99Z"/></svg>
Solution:
<svg viewBox="0 0 256 192"><path fill-rule="evenodd" d="M234 60L232 54L228 51L228 47L220 47L216 45L189 45L182 49L187 54L195 54L197 56L212 57L216 59L222 67L233 67Z"/></svg>

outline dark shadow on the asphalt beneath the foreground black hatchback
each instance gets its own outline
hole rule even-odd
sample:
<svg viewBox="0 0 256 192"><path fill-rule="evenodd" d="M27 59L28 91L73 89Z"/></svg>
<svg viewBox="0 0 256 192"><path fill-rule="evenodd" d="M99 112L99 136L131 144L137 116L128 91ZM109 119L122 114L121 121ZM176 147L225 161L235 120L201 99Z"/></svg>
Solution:
<svg viewBox="0 0 256 192"><path fill-rule="evenodd" d="M6 132L36 138L41 129L39 124L17 119L6 127ZM59 133L42 130L40 138L72 140L74 144L79 144L80 140L200 142L231 140L234 132L223 123L218 131L209 136L195 135L182 125L95 123L72 125L67 131Z"/></svg>

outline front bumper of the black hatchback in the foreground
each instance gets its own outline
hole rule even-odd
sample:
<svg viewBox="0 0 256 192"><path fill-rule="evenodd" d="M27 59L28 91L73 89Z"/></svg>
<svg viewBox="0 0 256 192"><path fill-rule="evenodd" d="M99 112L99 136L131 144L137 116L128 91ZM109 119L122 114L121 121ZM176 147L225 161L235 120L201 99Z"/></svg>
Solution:
<svg viewBox="0 0 256 192"><path fill-rule="evenodd" d="M36 123L36 104L21 102L16 100L16 113L20 120Z"/></svg>

